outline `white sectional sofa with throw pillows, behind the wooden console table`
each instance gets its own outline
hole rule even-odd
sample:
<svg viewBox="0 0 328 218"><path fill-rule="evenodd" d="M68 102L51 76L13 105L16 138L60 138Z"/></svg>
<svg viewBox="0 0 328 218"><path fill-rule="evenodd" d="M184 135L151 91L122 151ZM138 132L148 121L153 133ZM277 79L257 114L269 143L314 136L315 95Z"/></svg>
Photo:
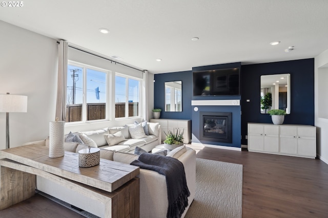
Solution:
<svg viewBox="0 0 328 218"><path fill-rule="evenodd" d="M125 130L123 128L126 128L126 126L110 127L108 128L108 132L105 128L83 132L83 134L86 134L88 138L92 139L93 142L96 142L97 146L101 145L98 146L100 148L100 158L130 164L133 160L138 158L137 155L129 154L134 152L136 146L145 151L151 151L152 148L160 144L160 126L158 123L148 123L148 127L149 135L146 138L127 138L126 140L111 146L102 145L105 143L103 140L103 138L105 138L104 135L107 133L115 134L119 131L124 132ZM79 134L82 134L82 132ZM124 134L127 133L124 132ZM30 142L27 144L42 144L47 146L47 140ZM71 152L78 152L80 149L84 149L86 147L88 146L77 142L65 143L65 150ZM191 148L181 146L177 149L169 151L168 156L178 159L185 168L190 197L188 198L188 207L181 216L184 217L195 197L196 152ZM140 169L140 174L138 177L140 179L140 217L166 217L168 209L168 189L166 186L166 177L160 175L158 172L148 169ZM99 202L90 199L81 193L72 191L69 187L63 187L43 177L37 177L36 189L99 217L105 216L104 205L99 204Z"/></svg>

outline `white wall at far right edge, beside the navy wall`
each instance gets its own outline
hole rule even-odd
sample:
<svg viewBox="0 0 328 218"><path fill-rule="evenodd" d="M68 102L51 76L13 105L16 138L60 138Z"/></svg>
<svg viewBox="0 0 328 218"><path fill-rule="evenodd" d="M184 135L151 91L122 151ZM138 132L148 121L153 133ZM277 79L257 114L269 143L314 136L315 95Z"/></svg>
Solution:
<svg viewBox="0 0 328 218"><path fill-rule="evenodd" d="M326 85L328 84L328 50L315 57L314 68L314 124L317 126L317 154L322 161L328 164L328 119L325 113L322 113L322 110L328 110L325 107L325 105L328 105L326 89Z"/></svg>

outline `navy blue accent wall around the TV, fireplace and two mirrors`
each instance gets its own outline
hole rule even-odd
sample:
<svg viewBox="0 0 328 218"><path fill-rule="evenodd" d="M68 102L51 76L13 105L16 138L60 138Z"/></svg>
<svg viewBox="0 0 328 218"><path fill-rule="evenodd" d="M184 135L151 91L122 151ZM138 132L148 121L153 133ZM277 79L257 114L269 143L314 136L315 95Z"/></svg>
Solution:
<svg viewBox="0 0 328 218"><path fill-rule="evenodd" d="M224 69L236 66L235 64L240 63L218 64L193 69L198 71L214 68ZM160 117L163 119L192 120L192 140L197 143L199 142L199 121L196 121L196 117L199 115L199 112L197 113L193 110L194 107L191 105L191 100L240 99L240 106L214 107L214 110L218 112L229 112L231 110L235 114L232 118L232 144L220 143L219 145L240 147L241 144L247 144L245 136L247 135L248 122L272 123L270 115L260 113L260 76L284 73L291 74L291 114L285 116L284 124L314 125L314 58L241 66L240 96L193 97L192 71L155 74L154 108L163 110ZM164 112L164 83L178 80L182 81L182 112ZM250 102L247 102L247 99ZM198 108L204 111L209 110L208 106L198 106ZM212 110L211 108L209 112ZM240 136L242 137L241 140ZM215 144L214 142L206 141L202 143Z"/></svg>

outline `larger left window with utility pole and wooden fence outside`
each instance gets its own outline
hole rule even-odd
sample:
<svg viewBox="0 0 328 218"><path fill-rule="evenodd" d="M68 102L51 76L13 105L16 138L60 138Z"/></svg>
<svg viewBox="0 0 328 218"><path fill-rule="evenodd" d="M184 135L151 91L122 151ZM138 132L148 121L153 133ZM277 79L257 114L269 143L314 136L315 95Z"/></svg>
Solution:
<svg viewBox="0 0 328 218"><path fill-rule="evenodd" d="M66 122L106 119L107 74L84 64L68 64Z"/></svg>

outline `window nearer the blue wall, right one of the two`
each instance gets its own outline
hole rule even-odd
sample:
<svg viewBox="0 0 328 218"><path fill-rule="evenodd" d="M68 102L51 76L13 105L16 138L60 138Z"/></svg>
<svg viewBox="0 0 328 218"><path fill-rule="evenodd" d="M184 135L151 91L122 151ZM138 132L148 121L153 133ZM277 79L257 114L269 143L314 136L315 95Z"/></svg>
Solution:
<svg viewBox="0 0 328 218"><path fill-rule="evenodd" d="M140 79L116 74L115 118L138 117L140 107Z"/></svg>

